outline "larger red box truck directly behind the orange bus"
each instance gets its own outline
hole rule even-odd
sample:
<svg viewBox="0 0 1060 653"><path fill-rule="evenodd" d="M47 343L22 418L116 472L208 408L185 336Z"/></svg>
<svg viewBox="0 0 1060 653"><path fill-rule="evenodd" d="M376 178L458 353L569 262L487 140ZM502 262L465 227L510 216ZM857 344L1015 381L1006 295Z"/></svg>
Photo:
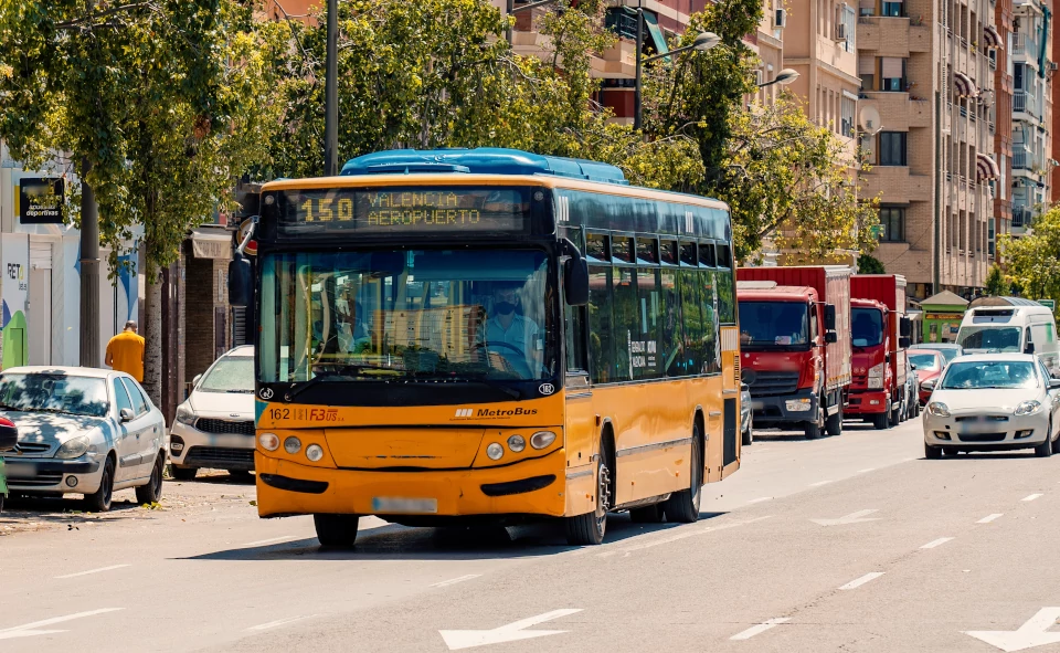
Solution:
<svg viewBox="0 0 1060 653"><path fill-rule="evenodd" d="M741 267L741 368L754 426L842 432L850 386L850 268Z"/></svg>

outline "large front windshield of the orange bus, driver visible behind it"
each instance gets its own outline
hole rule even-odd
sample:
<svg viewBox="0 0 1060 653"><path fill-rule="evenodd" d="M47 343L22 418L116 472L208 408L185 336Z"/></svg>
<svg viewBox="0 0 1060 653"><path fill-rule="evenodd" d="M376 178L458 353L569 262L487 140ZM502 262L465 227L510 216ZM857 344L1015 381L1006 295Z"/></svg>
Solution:
<svg viewBox="0 0 1060 653"><path fill-rule="evenodd" d="M261 381L552 379L539 250L278 253L262 273Z"/></svg>

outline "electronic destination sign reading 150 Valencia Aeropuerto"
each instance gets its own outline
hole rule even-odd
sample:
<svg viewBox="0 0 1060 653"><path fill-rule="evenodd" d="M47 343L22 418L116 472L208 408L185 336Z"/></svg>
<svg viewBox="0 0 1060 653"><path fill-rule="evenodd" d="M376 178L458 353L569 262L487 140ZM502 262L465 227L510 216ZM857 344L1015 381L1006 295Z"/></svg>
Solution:
<svg viewBox="0 0 1060 653"><path fill-rule="evenodd" d="M280 194L279 232L284 235L526 232L530 217L526 189L331 188Z"/></svg>

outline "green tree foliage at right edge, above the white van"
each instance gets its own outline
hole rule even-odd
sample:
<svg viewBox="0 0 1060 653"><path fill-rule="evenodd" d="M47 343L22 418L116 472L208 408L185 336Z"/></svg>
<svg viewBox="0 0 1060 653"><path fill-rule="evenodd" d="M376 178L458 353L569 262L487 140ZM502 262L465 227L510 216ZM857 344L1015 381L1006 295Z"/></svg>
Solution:
<svg viewBox="0 0 1060 653"><path fill-rule="evenodd" d="M997 247L1014 289L1030 299L1060 298L1060 209L1036 218L1025 235L1001 235Z"/></svg>

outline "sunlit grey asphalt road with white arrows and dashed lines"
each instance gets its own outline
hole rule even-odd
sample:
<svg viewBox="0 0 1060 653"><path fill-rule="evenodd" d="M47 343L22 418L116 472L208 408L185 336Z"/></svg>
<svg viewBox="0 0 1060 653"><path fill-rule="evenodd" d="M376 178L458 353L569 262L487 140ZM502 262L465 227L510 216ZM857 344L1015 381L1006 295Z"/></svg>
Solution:
<svg viewBox="0 0 1060 653"><path fill-rule="evenodd" d="M1060 457L756 438L698 524L586 548L364 519L328 552L253 487L170 482L218 501L0 537L0 652L1060 651Z"/></svg>

